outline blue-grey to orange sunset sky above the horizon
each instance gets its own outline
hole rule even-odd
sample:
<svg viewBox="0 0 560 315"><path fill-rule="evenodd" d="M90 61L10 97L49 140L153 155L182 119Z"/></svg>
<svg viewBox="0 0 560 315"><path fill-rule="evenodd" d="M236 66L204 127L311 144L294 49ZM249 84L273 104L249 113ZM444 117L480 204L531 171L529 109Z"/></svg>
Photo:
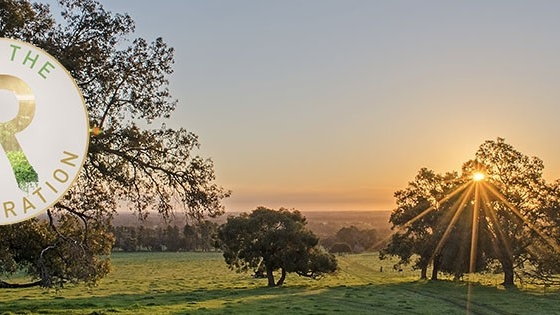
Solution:
<svg viewBox="0 0 560 315"><path fill-rule="evenodd" d="M392 210L498 137L560 178L560 2L101 1L176 50L227 211Z"/></svg>

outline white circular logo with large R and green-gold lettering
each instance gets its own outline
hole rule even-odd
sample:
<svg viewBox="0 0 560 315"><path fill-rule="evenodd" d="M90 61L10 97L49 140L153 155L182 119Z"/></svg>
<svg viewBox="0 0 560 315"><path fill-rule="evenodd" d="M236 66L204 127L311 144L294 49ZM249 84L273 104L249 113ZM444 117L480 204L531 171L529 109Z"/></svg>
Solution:
<svg viewBox="0 0 560 315"><path fill-rule="evenodd" d="M88 144L87 110L68 71L42 49L0 38L0 224L56 203Z"/></svg>

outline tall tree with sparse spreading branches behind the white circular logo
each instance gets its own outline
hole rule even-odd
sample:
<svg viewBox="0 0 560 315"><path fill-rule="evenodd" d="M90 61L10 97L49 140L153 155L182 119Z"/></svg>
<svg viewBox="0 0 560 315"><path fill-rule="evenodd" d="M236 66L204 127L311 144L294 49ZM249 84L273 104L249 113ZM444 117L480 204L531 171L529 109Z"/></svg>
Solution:
<svg viewBox="0 0 560 315"><path fill-rule="evenodd" d="M129 41L130 16L108 12L97 1L60 5L58 21L47 5L0 0L0 37L32 43L64 65L82 91L91 126L101 131L92 134L78 181L47 211L48 242L38 242L41 248L28 262L35 266L28 273L43 286L94 283L108 272L109 227L122 205L140 216L168 216L180 207L200 219L222 214L221 200L229 195L215 183L212 161L193 155L196 135L165 124L151 127L177 104L167 80L173 49L161 38ZM21 223L22 230L33 224Z"/></svg>

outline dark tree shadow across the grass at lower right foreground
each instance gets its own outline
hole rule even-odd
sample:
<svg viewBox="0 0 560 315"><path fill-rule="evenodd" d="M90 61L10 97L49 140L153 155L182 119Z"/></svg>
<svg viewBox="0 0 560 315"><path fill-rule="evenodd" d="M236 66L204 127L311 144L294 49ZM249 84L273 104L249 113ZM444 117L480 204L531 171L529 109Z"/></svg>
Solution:
<svg viewBox="0 0 560 315"><path fill-rule="evenodd" d="M201 307L173 314L558 314L558 294L550 296L450 281L417 281L325 288Z"/></svg>

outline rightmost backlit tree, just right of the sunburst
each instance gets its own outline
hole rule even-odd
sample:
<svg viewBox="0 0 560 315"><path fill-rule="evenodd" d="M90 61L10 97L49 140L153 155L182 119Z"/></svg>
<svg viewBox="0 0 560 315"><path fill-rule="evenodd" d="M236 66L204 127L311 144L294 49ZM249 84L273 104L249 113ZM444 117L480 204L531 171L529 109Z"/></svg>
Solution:
<svg viewBox="0 0 560 315"><path fill-rule="evenodd" d="M516 268L531 264L538 269L545 263L544 256L557 257L558 245L553 241L553 234L546 235L543 230L551 224L547 211L558 209L553 200L558 199L559 191L543 179L541 159L522 154L504 139L483 143L475 161L480 166L466 164L467 170L482 168L502 195L491 200L495 219L490 229L500 236L494 258L501 264L504 285L513 286ZM550 271L558 272L560 266Z"/></svg>

